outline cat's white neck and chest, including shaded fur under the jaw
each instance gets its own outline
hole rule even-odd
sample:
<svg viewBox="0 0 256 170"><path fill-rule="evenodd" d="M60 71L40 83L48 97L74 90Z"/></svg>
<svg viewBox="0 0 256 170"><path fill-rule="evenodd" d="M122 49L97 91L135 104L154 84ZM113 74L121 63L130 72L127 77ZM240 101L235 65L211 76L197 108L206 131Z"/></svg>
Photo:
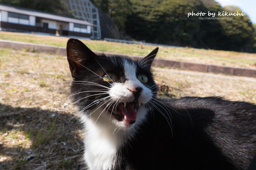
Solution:
<svg viewBox="0 0 256 170"><path fill-rule="evenodd" d="M93 114L97 115L102 111L98 109ZM116 164L118 149L133 137L137 129L136 124L132 128L122 129L109 123L103 116L95 121L95 118L86 115L82 116L82 122L85 124L84 159L87 165L94 167L92 169L112 169Z"/></svg>

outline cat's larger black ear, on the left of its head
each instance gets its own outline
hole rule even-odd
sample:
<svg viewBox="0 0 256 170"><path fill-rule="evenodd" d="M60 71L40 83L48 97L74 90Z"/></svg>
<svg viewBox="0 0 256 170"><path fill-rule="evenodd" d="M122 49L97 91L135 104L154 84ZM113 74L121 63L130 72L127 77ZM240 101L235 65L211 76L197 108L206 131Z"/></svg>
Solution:
<svg viewBox="0 0 256 170"><path fill-rule="evenodd" d="M80 70L85 69L86 63L97 55L80 40L70 38L67 42L67 59L72 77L75 78Z"/></svg>

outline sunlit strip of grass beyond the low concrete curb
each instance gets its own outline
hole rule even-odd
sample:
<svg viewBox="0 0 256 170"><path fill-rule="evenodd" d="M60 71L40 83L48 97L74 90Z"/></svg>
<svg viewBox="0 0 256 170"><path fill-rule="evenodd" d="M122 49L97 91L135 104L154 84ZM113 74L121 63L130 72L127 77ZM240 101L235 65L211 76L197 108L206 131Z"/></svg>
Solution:
<svg viewBox="0 0 256 170"><path fill-rule="evenodd" d="M66 42L68 40L67 37L45 36L4 31L0 31L0 39L62 47L66 46ZM84 42L92 50L108 51L128 55L147 54L156 47L143 45L143 49L142 51L140 51L140 45L136 44L121 44L115 42L84 39L82 40L82 42ZM181 47L159 47L158 58L256 69L256 54L243 52Z"/></svg>

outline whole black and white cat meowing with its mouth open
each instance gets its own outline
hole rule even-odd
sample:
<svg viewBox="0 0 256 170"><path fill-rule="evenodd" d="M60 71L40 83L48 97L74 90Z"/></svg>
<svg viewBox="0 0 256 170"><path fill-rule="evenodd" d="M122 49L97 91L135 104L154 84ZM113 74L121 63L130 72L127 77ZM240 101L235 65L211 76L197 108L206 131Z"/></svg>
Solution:
<svg viewBox="0 0 256 170"><path fill-rule="evenodd" d="M69 39L71 96L90 170L241 170L256 152L256 105L220 97L157 98L151 63L96 55Z"/></svg>

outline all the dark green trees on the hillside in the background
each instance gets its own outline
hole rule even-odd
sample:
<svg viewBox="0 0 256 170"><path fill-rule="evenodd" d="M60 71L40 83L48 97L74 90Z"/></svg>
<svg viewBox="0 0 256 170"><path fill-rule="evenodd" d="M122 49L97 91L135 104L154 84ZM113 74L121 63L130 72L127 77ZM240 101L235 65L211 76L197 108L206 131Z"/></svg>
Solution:
<svg viewBox="0 0 256 170"><path fill-rule="evenodd" d="M124 39L183 47L256 52L255 25L251 23L246 11L242 12L238 7L221 7L214 0L91 2L111 17ZM70 16L64 0L0 0L0 3ZM188 17L188 13L192 11L207 14ZM206 19L208 12L215 13L215 19L212 16ZM223 16L218 16L219 12L244 15L224 16L223 19Z"/></svg>

